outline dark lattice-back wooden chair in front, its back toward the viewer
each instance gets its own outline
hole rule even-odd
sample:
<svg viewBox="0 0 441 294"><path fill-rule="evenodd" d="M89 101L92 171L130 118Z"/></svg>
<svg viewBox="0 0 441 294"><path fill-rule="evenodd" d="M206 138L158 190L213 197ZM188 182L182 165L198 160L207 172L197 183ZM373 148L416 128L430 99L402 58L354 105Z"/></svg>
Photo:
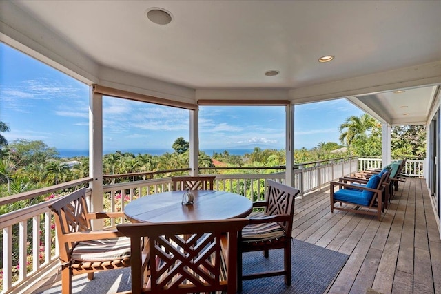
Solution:
<svg viewBox="0 0 441 294"><path fill-rule="evenodd" d="M237 235L248 222L119 224L132 242L132 293L235 294Z"/></svg>

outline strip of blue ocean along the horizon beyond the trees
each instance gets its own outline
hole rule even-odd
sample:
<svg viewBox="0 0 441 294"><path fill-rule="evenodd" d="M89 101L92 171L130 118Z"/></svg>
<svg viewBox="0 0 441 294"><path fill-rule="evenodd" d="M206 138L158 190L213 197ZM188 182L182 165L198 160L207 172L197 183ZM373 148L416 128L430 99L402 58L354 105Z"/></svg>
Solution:
<svg viewBox="0 0 441 294"><path fill-rule="evenodd" d="M59 158L72 158L76 156L89 157L89 149L57 149L59 152ZM138 154L150 154L150 155L163 155L166 152L173 153L173 149L103 149L103 155L115 153L121 151L121 153L132 153L135 156ZM246 153L252 153L253 149L201 149L208 156L212 156L214 152L222 153L228 151L232 155L243 156Z"/></svg>

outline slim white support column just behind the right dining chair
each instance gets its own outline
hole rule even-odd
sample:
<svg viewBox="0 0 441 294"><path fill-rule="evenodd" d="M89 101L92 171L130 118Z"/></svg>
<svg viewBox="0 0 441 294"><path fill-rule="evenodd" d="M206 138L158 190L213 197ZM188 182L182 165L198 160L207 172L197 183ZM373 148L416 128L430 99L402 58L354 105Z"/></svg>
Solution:
<svg viewBox="0 0 441 294"><path fill-rule="evenodd" d="M294 187L294 105L285 107L285 184Z"/></svg>

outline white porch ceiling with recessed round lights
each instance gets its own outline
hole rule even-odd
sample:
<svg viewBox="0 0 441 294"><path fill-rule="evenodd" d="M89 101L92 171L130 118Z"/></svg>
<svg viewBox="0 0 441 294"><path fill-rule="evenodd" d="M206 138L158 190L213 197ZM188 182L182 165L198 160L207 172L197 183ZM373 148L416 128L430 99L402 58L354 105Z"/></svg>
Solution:
<svg viewBox="0 0 441 294"><path fill-rule="evenodd" d="M326 85L328 93L337 93L333 87L342 81L348 92L351 81L360 78L360 85L353 83L351 101L378 112L383 121L400 123L404 113L403 121L425 120L434 87L418 94L408 90L398 102L390 100L398 95L362 89L373 89L387 72L404 68L411 70L402 85L417 80L423 85L427 76L418 75L418 69L427 64L436 81L427 79L427 85L441 83L441 1L13 3L30 15L26 21L48 28L99 66L195 90L267 88L295 94ZM145 12L152 7L171 12L172 22L150 22ZM318 63L324 55L335 59ZM265 76L267 70L280 74ZM388 90L400 85L396 76Z"/></svg>

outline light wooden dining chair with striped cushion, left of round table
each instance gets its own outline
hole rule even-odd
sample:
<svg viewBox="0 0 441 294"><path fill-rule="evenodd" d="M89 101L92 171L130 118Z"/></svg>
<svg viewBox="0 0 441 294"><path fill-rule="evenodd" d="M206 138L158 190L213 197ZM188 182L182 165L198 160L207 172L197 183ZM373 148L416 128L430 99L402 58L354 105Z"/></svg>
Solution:
<svg viewBox="0 0 441 294"><path fill-rule="evenodd" d="M59 260L61 291L72 293L72 275L107 271L130 266L130 238L119 231L92 231L90 220L122 217L123 213L91 213L85 198L85 188L63 196L49 205L54 212Z"/></svg>

